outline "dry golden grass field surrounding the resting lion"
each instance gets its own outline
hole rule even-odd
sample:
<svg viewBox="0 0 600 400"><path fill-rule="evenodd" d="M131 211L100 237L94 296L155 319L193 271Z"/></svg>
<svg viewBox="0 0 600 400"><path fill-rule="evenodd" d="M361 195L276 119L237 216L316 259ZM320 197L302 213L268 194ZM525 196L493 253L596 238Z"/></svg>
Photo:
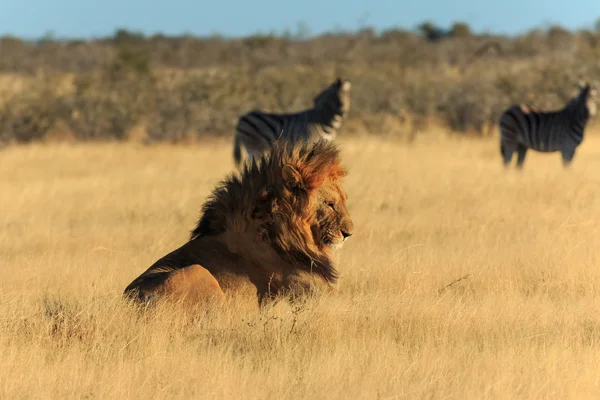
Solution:
<svg viewBox="0 0 600 400"><path fill-rule="evenodd" d="M0 153L0 398L600 395L600 137L522 173L495 140L340 143L340 293L193 320L120 294L186 240L230 143Z"/></svg>

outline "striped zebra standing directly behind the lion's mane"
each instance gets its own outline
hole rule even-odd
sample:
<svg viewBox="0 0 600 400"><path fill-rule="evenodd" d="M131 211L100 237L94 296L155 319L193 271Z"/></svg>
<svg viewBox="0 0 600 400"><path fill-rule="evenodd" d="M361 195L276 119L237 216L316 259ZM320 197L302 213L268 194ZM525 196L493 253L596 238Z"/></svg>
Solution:
<svg viewBox="0 0 600 400"><path fill-rule="evenodd" d="M240 117L237 123L233 158L239 168L241 147L248 160L271 149L277 140L334 140L350 109L350 82L336 80L313 100L314 107L294 114L274 114L259 110Z"/></svg>

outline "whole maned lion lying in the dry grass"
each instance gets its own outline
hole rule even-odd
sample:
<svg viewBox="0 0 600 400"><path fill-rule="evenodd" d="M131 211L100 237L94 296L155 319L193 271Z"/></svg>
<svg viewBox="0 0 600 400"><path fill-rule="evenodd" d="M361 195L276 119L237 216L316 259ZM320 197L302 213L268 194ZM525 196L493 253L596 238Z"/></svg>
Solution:
<svg viewBox="0 0 600 400"><path fill-rule="evenodd" d="M278 295L335 290L335 255L354 232L345 175L333 143L277 143L220 182L190 240L124 295L198 304L245 292L260 306Z"/></svg>

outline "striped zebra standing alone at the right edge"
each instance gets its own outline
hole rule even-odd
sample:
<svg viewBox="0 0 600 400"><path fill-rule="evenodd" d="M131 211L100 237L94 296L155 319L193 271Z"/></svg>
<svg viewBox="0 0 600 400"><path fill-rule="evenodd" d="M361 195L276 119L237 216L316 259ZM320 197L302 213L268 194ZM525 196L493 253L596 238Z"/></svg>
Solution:
<svg viewBox="0 0 600 400"><path fill-rule="evenodd" d="M596 114L595 90L580 86L577 97L557 111L537 111L526 105L513 105L500 116L500 152L508 166L517 151L517 168L523 167L527 149L540 152L560 151L563 165L573 160L583 140L590 116Z"/></svg>

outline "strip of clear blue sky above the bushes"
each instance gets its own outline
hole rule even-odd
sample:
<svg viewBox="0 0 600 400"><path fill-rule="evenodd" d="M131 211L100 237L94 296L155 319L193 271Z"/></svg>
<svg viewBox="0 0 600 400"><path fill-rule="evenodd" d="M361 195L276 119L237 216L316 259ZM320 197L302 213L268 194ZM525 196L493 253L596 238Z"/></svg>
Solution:
<svg viewBox="0 0 600 400"><path fill-rule="evenodd" d="M600 0L0 0L0 34L27 38L93 37L117 27L244 36L294 32L299 22L321 33L365 24L413 28L424 20L514 34L549 24L592 27L598 17Z"/></svg>

